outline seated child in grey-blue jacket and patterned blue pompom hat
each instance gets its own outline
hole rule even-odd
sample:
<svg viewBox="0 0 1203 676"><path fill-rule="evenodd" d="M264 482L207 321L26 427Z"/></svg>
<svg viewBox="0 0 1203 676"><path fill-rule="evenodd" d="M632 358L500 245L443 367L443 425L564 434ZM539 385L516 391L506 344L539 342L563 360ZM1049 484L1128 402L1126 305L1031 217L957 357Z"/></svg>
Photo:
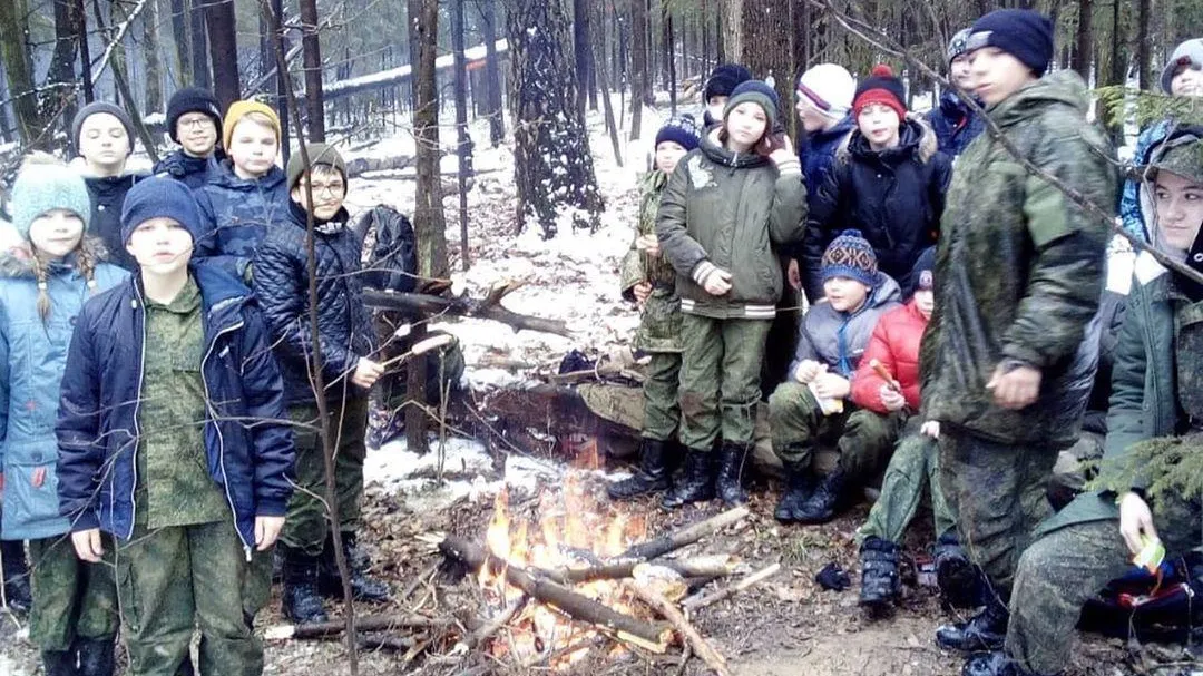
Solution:
<svg viewBox="0 0 1203 676"><path fill-rule="evenodd" d="M878 415L851 401L877 320L899 307L897 283L878 272L872 245L855 230L831 242L819 274L826 302L801 319L789 380L769 397L772 450L788 475L774 514L783 523L830 521L845 485L879 470L902 426L900 414ZM838 439L840 463L824 476L811 467L819 439Z"/></svg>

